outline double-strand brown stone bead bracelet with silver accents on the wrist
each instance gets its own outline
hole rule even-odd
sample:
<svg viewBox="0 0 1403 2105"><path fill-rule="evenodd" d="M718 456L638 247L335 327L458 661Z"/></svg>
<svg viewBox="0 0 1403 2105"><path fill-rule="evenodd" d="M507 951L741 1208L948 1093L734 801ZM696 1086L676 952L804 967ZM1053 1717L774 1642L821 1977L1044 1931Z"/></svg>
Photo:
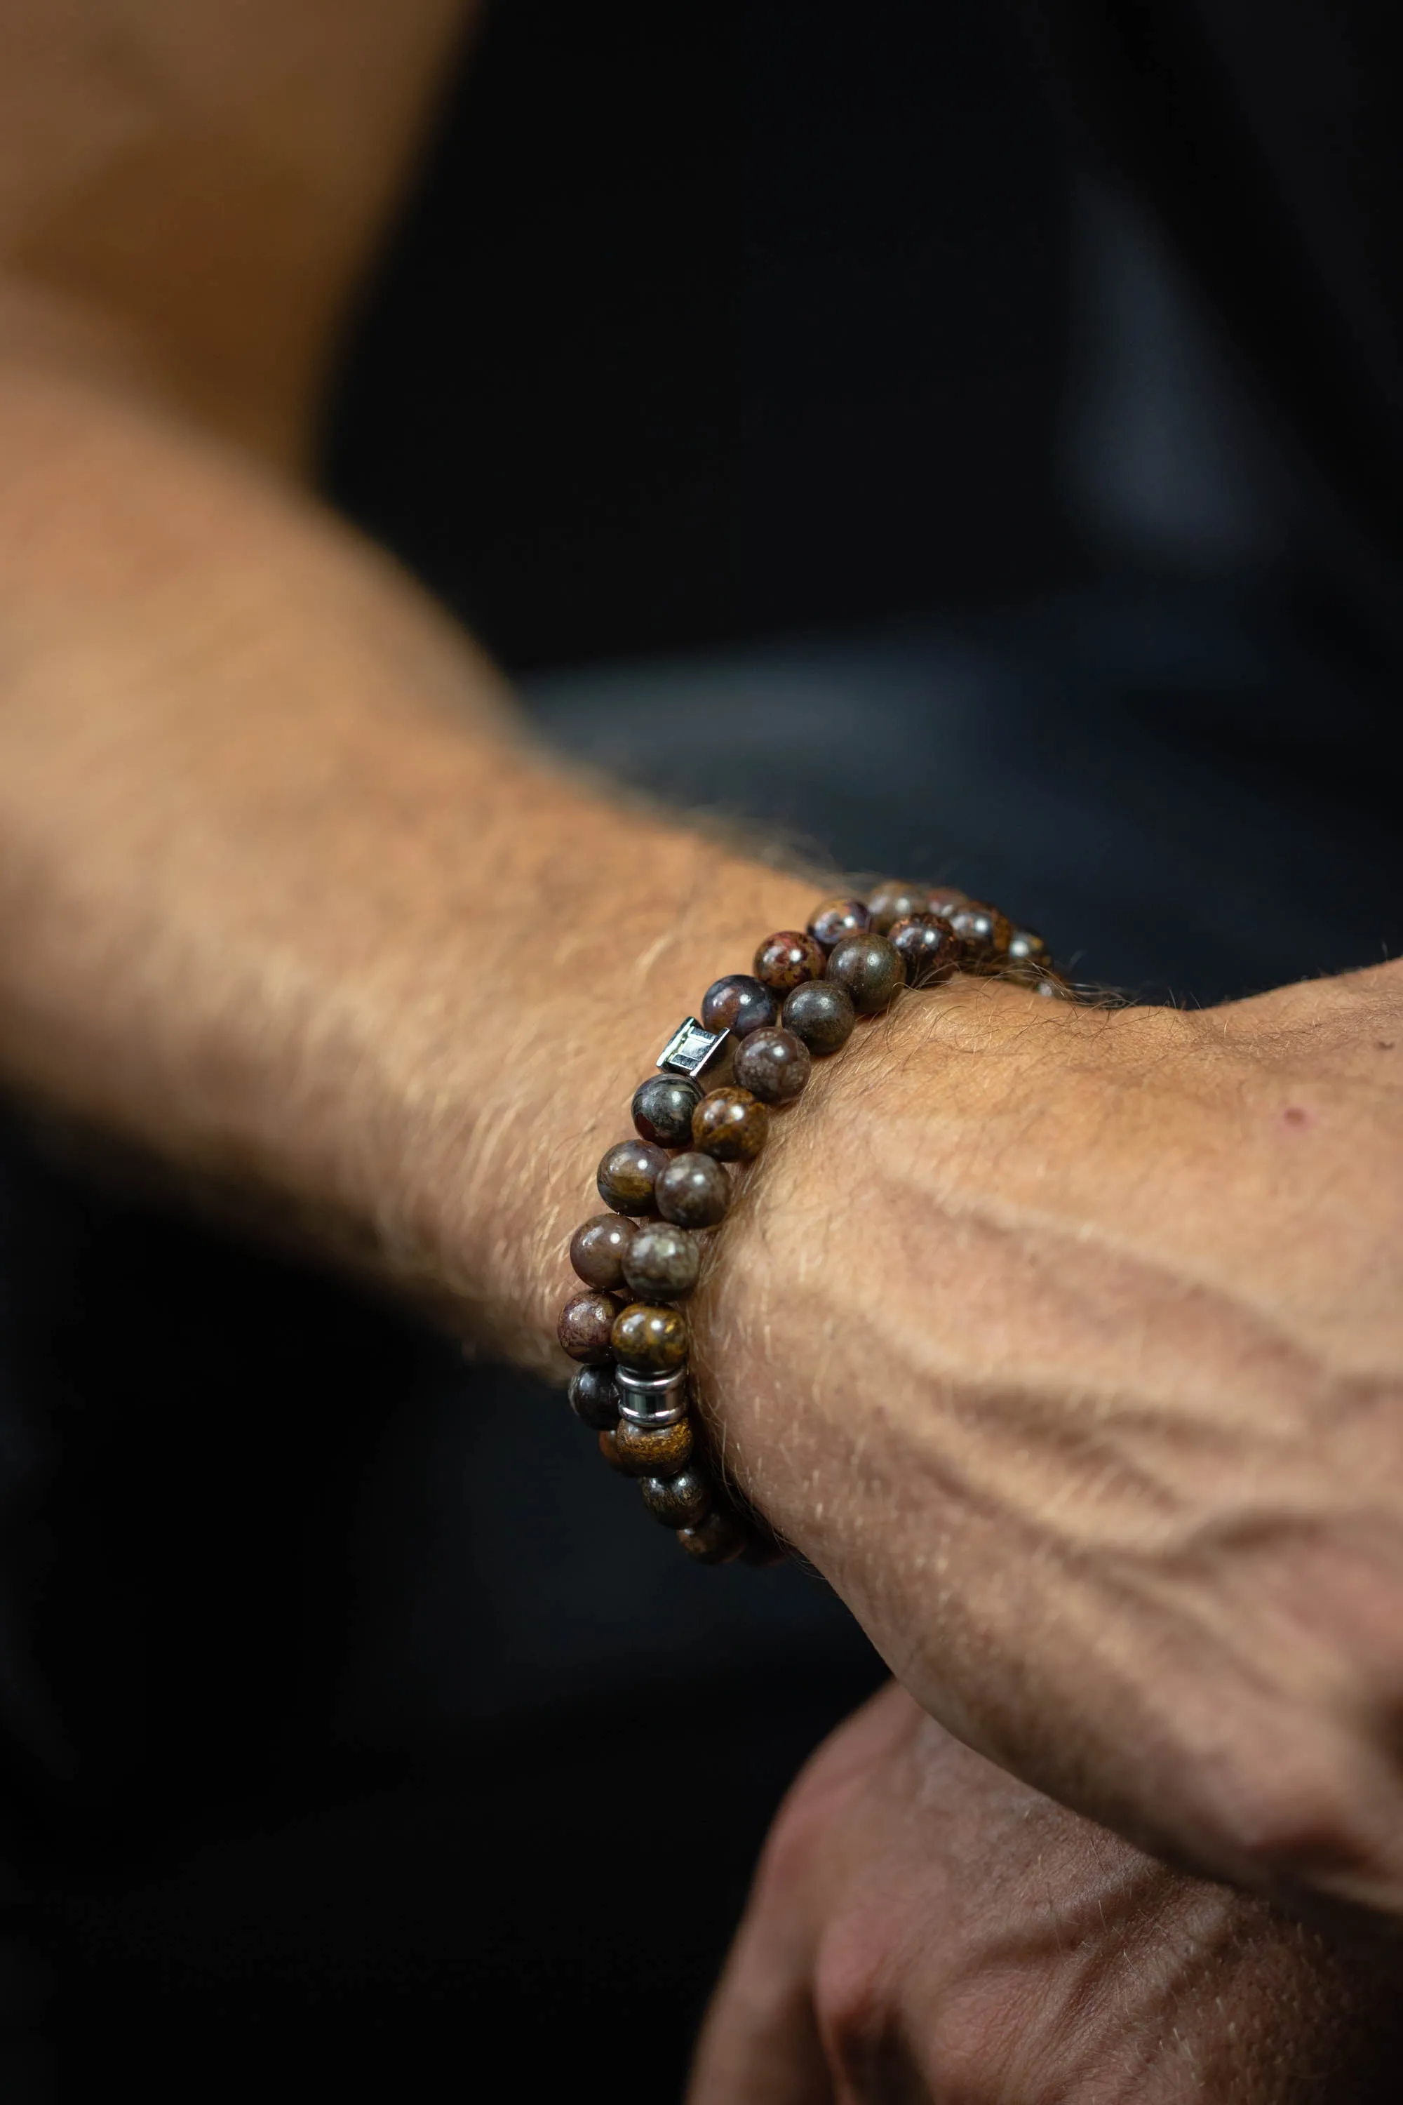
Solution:
<svg viewBox="0 0 1403 2105"><path fill-rule="evenodd" d="M637 1139L599 1162L610 1208L576 1227L570 1263L585 1292L560 1314L560 1343L581 1362L570 1404L599 1434L604 1459L639 1478L644 1505L703 1564L780 1556L764 1522L721 1490L692 1436L688 1324L677 1303L700 1276L703 1234L732 1202L728 1164L766 1145L770 1111L793 1103L814 1059L837 1052L858 1017L898 987L953 973L1020 979L1069 1000L1048 945L963 893L883 884L871 899L825 899L808 928L755 951L755 970L717 979L667 1040L633 1095ZM707 1069L730 1080L703 1088Z"/></svg>

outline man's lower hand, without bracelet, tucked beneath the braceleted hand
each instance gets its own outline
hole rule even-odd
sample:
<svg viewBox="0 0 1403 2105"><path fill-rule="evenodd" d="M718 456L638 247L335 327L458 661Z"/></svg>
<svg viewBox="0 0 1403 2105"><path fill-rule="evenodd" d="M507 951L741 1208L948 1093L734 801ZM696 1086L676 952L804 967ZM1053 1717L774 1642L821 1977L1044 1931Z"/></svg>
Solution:
<svg viewBox="0 0 1403 2105"><path fill-rule="evenodd" d="M1397 2092L1395 2000L892 1686L780 1810L690 2105L1369 2105Z"/></svg>

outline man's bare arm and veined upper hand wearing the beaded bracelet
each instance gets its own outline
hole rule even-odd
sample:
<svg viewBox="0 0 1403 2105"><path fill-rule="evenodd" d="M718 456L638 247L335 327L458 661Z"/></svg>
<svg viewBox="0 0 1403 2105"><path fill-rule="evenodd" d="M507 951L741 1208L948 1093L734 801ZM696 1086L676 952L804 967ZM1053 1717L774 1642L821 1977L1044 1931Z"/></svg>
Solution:
<svg viewBox="0 0 1403 2105"><path fill-rule="evenodd" d="M290 478L450 13L0 27L0 1074L564 1372L633 1082L812 890L532 754ZM780 1122L698 1309L728 1463L934 1716L1390 1916L1401 1082L1395 966L1203 1017L911 998Z"/></svg>

